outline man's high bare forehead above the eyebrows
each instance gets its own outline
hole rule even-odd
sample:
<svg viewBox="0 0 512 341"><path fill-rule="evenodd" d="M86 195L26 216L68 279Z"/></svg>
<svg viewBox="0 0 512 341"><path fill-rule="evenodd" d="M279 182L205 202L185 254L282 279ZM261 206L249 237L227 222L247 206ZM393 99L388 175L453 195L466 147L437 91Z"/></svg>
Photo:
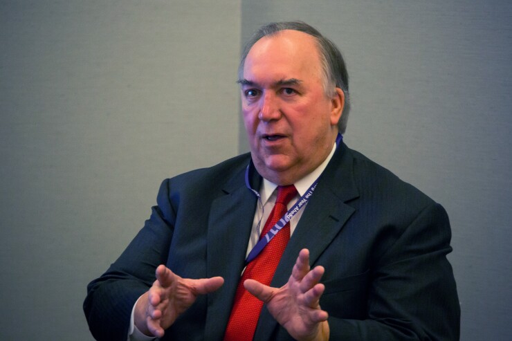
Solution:
<svg viewBox="0 0 512 341"><path fill-rule="evenodd" d="M246 57L244 79L311 80L320 77L316 39L296 30L282 30L259 39Z"/></svg>

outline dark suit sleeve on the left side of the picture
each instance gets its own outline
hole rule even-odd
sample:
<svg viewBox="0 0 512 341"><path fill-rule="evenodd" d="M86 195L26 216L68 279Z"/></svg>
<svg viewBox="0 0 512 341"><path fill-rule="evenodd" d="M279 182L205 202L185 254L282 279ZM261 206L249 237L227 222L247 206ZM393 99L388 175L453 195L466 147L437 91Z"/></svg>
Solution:
<svg viewBox="0 0 512 341"><path fill-rule="evenodd" d="M87 286L84 312L96 340L126 340L136 300L154 282L156 267L167 261L175 216L167 181L160 187L157 203L117 261Z"/></svg>

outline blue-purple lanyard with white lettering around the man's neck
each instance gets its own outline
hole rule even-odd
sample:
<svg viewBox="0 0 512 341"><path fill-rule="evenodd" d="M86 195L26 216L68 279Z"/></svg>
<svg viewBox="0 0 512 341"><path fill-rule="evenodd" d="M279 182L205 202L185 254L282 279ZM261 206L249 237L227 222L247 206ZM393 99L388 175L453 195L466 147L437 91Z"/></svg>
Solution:
<svg viewBox="0 0 512 341"><path fill-rule="evenodd" d="M340 145L340 142L342 141L342 136L338 133L338 136L336 136L336 148ZM320 174L320 176L322 176ZM273 237L277 234L277 232L280 232L282 228L284 228L284 225L290 221L290 219L297 214L297 212L300 211L301 208L306 205L309 198L313 195L313 192L315 191L316 185L318 184L318 180L320 180L320 176L313 182L313 185L309 187L309 190L304 193L303 196L300 197L300 199L295 202L295 204L282 216L282 218L275 223L275 225L264 235L264 237L260 238L259 241L254 246L253 250L250 250L249 255L246 259L246 264L249 264L250 261L255 259L257 255L259 255L259 252L262 252L262 250L267 246L267 244L273 239ZM246 169L246 186L249 190L253 191L253 193L258 197L258 199L261 199L259 196L259 193L255 190L253 190L252 187L250 187L249 183L249 165Z"/></svg>

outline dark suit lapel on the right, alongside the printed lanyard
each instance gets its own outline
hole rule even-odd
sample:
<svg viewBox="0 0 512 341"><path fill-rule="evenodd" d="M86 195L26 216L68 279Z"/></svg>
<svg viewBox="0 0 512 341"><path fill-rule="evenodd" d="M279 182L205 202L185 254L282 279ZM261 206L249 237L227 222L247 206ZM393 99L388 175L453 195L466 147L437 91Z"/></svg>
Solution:
<svg viewBox="0 0 512 341"><path fill-rule="evenodd" d="M313 267L354 213L354 208L346 204L358 196L351 171L353 160L346 149L345 145L340 146L324 170L286 246L271 286L280 287L288 282L295 260L303 248L309 249L310 264ZM277 326L277 321L264 308L259 317L255 340L270 340Z"/></svg>

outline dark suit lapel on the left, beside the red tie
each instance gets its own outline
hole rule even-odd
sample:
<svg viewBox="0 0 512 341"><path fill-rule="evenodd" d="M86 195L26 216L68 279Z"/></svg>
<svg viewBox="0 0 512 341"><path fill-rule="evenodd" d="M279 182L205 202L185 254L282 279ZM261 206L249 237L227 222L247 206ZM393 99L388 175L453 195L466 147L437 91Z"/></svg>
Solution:
<svg viewBox="0 0 512 341"><path fill-rule="evenodd" d="M205 340L221 340L230 315L235 291L244 268L247 243L253 225L256 196L237 174L214 200L208 221L207 276L221 276L223 286L208 295Z"/></svg>

